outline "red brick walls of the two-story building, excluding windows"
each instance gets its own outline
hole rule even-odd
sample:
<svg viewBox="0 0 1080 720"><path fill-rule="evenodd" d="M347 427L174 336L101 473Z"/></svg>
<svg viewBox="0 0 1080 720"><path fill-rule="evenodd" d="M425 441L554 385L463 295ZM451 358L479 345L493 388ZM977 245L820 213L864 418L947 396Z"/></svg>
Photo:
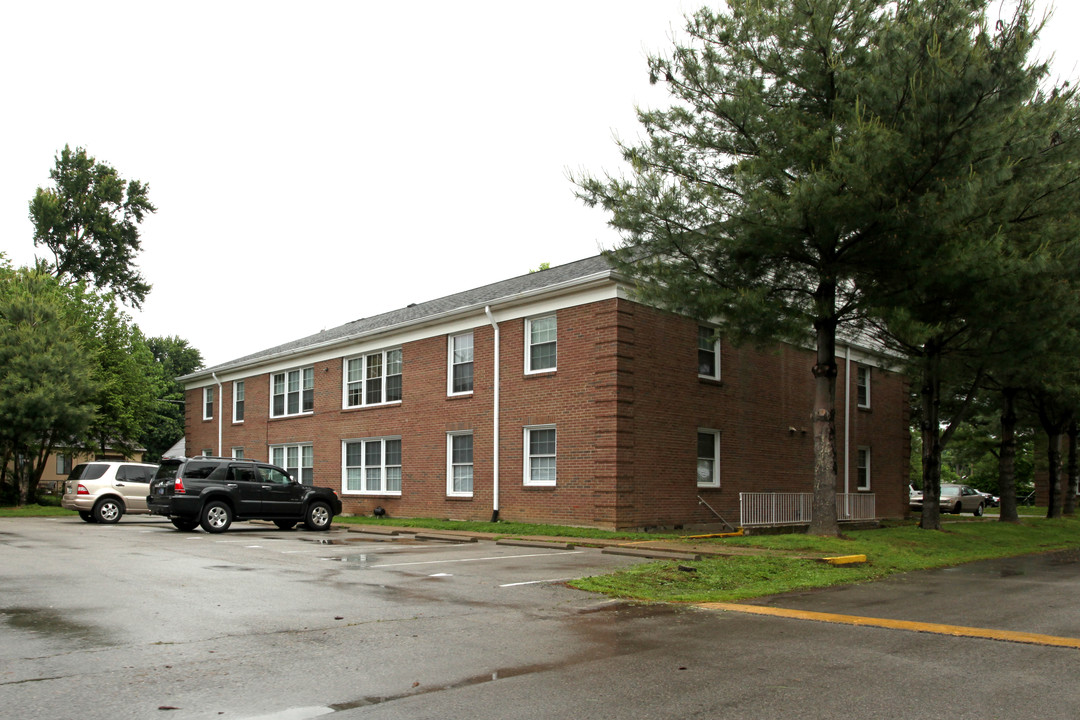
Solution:
<svg viewBox="0 0 1080 720"><path fill-rule="evenodd" d="M721 343L721 379L697 375L697 324L625 300L557 312L557 370L524 372L523 320L500 323L500 517L599 527L712 524L700 494L738 522L740 491L809 491L812 485L812 355L791 347ZM267 373L245 378L245 421L232 423L232 382L224 384L224 454L243 447L266 460L269 445L312 443L314 483L341 488L341 440L402 437L401 497L346 495L345 512L489 519L492 513L494 330L474 328L474 392L447 397L447 339L403 345L400 405L341 409L342 358L314 364L310 416L268 419ZM394 345L390 345L394 347ZM302 365L301 365L302 366ZM838 385L845 382L843 367ZM879 516L906 507L906 388L873 369L872 408L852 410L855 448L872 447ZM842 392L838 390L838 402ZM854 403L854 383L851 386ZM188 391L188 448L217 451L217 419L202 420L201 390ZM215 408L215 415L217 408ZM554 424L555 487L524 485L524 427ZM697 487L697 429L721 432L718 489ZM795 432L789 431L791 427ZM472 498L446 494L446 433L473 432ZM838 411L838 444L843 412ZM841 466L842 473L842 459ZM841 479L842 489L842 479Z"/></svg>

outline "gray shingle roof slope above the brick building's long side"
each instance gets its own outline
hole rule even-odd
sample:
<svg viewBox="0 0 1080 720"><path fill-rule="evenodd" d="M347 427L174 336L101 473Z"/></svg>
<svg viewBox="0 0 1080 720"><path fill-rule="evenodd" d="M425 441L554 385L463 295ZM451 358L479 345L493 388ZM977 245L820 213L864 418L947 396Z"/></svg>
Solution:
<svg viewBox="0 0 1080 720"><path fill-rule="evenodd" d="M577 260L566 264L531 272L527 275L503 280L490 285L484 285L463 293L456 293L444 298L429 300L417 304L408 305L400 310L392 310L380 315L363 317L361 320L346 323L338 327L322 330L314 335L309 335L299 340L293 340L274 348L268 348L251 355L238 357L237 359L215 365L214 367L197 370L190 375L179 378L187 380L208 376L211 372L224 371L245 365L253 365L260 361L300 353L323 345L346 342L352 338L368 335L378 330L388 330L399 326L407 326L413 323L428 318L437 317L453 313L457 310L471 308L483 308L487 304L495 304L500 301L510 300L515 296L542 291L546 288L554 288L559 285L572 285L576 282L584 281L594 276L611 276L611 264L603 255L597 255L584 260Z"/></svg>

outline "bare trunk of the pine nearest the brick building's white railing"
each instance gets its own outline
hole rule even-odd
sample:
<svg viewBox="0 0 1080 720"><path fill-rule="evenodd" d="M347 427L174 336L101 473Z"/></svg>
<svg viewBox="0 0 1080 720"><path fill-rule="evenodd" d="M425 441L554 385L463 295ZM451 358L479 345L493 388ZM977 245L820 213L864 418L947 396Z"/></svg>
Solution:
<svg viewBox="0 0 1080 720"><path fill-rule="evenodd" d="M824 291L828 293L828 288ZM835 302L835 288L832 293ZM819 320L814 323L814 330L818 335L818 362L813 366L811 425L814 462L810 534L836 536L840 534L840 524L836 518L836 321Z"/></svg>

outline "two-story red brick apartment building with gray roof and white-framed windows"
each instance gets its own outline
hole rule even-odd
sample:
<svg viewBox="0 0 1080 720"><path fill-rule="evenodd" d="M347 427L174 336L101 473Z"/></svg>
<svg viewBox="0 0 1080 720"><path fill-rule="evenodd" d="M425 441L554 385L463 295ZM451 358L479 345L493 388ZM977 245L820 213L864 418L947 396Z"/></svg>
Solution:
<svg viewBox="0 0 1080 720"><path fill-rule="evenodd" d="M809 492L813 354L733 348L630 287L598 256L187 375L188 451L391 517L708 526L742 492ZM867 348L838 359L838 491L901 517L906 382Z"/></svg>

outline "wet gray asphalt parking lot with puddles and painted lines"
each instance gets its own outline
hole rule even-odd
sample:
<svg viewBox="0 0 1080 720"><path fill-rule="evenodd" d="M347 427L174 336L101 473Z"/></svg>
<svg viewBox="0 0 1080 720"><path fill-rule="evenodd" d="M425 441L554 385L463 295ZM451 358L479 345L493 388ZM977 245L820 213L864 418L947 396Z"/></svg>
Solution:
<svg viewBox="0 0 1080 720"><path fill-rule="evenodd" d="M0 520L12 718L1072 718L1080 650L686 606L596 549ZM1068 554L757 604L1080 637ZM970 691L969 691L970 690Z"/></svg>

